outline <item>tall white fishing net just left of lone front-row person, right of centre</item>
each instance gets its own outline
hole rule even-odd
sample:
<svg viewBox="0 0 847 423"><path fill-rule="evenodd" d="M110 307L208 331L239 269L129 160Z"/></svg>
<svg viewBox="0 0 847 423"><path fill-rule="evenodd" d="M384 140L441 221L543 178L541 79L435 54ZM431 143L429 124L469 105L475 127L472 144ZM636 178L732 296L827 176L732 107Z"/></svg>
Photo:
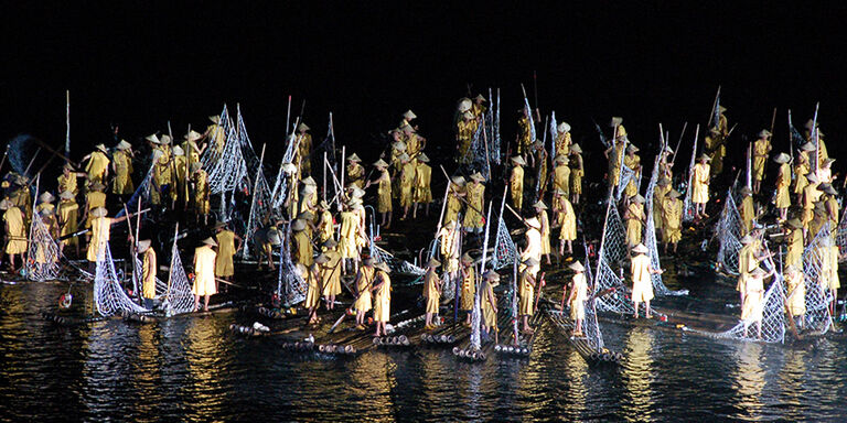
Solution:
<svg viewBox="0 0 847 423"><path fill-rule="evenodd" d="M613 290L613 292L597 299L597 308L612 313L634 313L635 308L626 297L623 278L612 269L613 267L621 269L629 258L629 246L621 216L611 203L607 207L605 226L600 242L594 292L600 293L607 290Z"/></svg>

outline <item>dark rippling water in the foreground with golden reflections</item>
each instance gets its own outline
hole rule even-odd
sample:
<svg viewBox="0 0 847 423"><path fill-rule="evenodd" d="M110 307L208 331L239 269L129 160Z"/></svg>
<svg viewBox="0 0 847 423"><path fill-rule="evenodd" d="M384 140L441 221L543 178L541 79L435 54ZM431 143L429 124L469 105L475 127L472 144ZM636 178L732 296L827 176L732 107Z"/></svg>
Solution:
<svg viewBox="0 0 847 423"><path fill-rule="evenodd" d="M66 289L0 285L2 421L847 420L843 340L759 345L602 324L626 357L603 369L545 324L523 361L470 365L433 348L326 359L230 334L250 318L238 312L43 321Z"/></svg>

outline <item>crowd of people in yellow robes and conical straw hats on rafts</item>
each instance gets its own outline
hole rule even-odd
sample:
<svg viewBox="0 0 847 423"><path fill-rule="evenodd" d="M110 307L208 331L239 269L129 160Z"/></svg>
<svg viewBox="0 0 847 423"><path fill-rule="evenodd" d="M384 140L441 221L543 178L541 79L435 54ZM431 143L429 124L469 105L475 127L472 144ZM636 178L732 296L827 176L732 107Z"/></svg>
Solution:
<svg viewBox="0 0 847 423"><path fill-rule="evenodd" d="M731 129L725 117L726 109L720 107L716 111L717 118L709 124L708 134L703 140L703 153L698 155L697 163L683 172L680 177L674 178L675 152L669 145L662 147L658 152L658 182L652 198L652 216L646 215L646 199L639 193L639 181L643 172L640 149L629 139L622 118L614 117L610 121L611 142L602 151L608 160L608 169L604 175L598 172L593 176L597 180L604 178L608 188L613 189L621 183L624 166L634 173L629 176L621 200L614 206L622 212L626 243L631 250L629 276L636 317L639 303L642 302L646 304L646 316L651 316L650 302L654 296L651 274L663 272L662 269L654 269L646 256L647 248L643 243L642 234L647 219L653 219L656 236L664 243L664 252L675 253L683 237L683 197L686 194L682 192L689 189L687 194L693 204L695 224L705 223L709 217L709 200L716 197L716 193L710 191L710 184L719 181L721 173L727 172L723 170L723 161ZM454 161L460 169L469 169L472 162L473 134L484 124L486 100L482 96L463 98L458 102ZM550 158L543 141L535 140L538 128L533 126L540 119L534 120L532 113L528 107L519 110L515 142L508 148L504 166L500 170L508 193L507 207L525 225L525 242L518 251L521 264L517 281L522 330L533 330L528 317L536 312L536 292L544 285L544 273L539 275L543 267L553 269L569 263L573 276L567 299L571 317L576 321L576 333L581 334L583 302L592 294L592 281L587 280L585 265L572 256L578 231L576 209L580 207L583 180L590 175L586 175L583 151L572 141L570 126L566 122L556 126L551 142L555 143L554 151L557 154ZM219 117L213 116L210 119L211 124L203 133L189 131L179 145L169 134L151 134L144 139L147 145L132 145L125 140L112 148L98 144L83 158L79 167L68 162L56 185L51 186L41 181L37 202L31 199L30 187L33 181L13 172L7 174L2 182L4 198L0 202L0 209L3 210L6 223L3 251L8 256L9 270L17 272L24 260L43 264L44 260L50 259L46 254L37 253L34 258L25 257L29 251L28 228L33 214L37 214L54 239L58 240L63 254L85 258L92 265L101 259L104 246L110 237L110 227L132 216L129 213L121 217L109 217L107 205L119 205L135 192L135 182L144 175L135 172L137 166L133 163L140 163L139 152L149 148L149 158L152 160L149 207L165 214L187 214L195 225L211 227L215 232L196 246L194 251L195 308L201 307L201 300L202 307L208 307L210 296L218 292L218 282L233 281L234 256L247 241L254 242L259 250L259 267L267 262L274 271L276 264L271 251L280 246L281 238L286 236L277 228L290 224L291 258L296 271L308 283L304 307L309 310L309 321L320 321L321 307L333 310L336 300L345 295L343 281L351 280L353 288L350 295L358 327L365 328L365 315L372 312L377 323L376 335L384 334L392 306L392 269L374 254L363 254L371 241L366 234L364 202L371 192L368 198L374 198L375 213L379 215L384 229L396 225L398 217L395 216L395 208L401 220L416 219L419 213L429 216L430 204L433 202L432 167L426 154L427 139L420 134L416 123L417 116L411 110L403 113L397 128L389 131L392 140L387 151L374 163L363 164L355 152L343 158L346 162L341 178L344 187L330 202L319 199L315 177L321 165L318 165L319 161L313 154L310 128L300 123L289 139L289 142L297 145L293 160L283 163L281 169L293 186L292 195L288 196L285 204L286 213L281 217L279 214L264 216L264 227L251 240L242 239L227 223L210 221L210 181L201 156L206 149L216 149L221 153L226 142ZM787 252L783 260L783 271L789 285L787 306L794 317L804 313L802 251L825 224L828 223L833 230L839 223L835 175L832 171L835 160L827 154L824 134L816 121L810 120L805 143L791 154L774 153L770 137L769 130L762 130L751 145L751 183L741 189L742 199L739 204L743 227L737 286L742 303L741 318L759 323L760 332L764 284L774 272L773 269L764 270L760 265L769 258L760 224L766 203L772 202L774 205L775 218L785 232ZM773 196L766 195L762 187L769 162L779 167L775 180L771 181L775 186ZM527 172L529 170L532 172ZM478 260L467 252L472 249L471 246L481 247L483 243L480 239L485 226L483 210L486 202L496 196L486 192L486 184L492 184L493 180L486 180L479 169L467 178L457 172L448 176L448 180L442 217L435 231L440 247L437 254L424 265L421 294L426 302L426 326L432 328L438 325L437 317L446 284L455 282L459 307L468 313L465 324L470 324L474 295L480 290L483 332L494 332L498 313L494 288L498 284L500 275L493 270L478 275L474 267ZM528 181L533 183L528 184ZM690 181L690 186L687 181ZM323 194L326 198L326 193ZM830 250L819 281L833 294L839 288L839 252L834 237L835 231L826 243ZM143 265L141 297L152 305L159 269L157 252L150 239L131 242L141 254ZM81 250L83 247L84 252ZM551 256L557 258L555 263Z"/></svg>

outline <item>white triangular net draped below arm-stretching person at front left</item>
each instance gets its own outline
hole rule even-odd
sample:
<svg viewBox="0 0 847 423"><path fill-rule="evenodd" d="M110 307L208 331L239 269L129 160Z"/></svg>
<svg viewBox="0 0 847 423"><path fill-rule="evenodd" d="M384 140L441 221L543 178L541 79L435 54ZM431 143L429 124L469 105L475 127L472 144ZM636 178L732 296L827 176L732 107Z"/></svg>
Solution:
<svg viewBox="0 0 847 423"><path fill-rule="evenodd" d="M94 302L97 312L103 316L118 313L144 313L147 308L136 304L127 296L115 272L109 243L104 242L97 258L97 270L94 275Z"/></svg>

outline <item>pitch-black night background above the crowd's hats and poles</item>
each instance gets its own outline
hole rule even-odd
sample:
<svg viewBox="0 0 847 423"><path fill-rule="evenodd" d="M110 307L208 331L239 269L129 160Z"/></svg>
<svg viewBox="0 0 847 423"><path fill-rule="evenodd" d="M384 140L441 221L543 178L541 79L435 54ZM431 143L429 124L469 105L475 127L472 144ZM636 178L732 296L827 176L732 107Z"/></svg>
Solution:
<svg viewBox="0 0 847 423"><path fill-rule="evenodd" d="M591 118L613 115L642 148L655 144L658 122L675 142L684 121L706 123L721 85L739 152L774 107L784 150L787 108L802 128L821 101L830 154L840 153L844 7L637 3L15 3L0 30L0 139L28 132L63 145L65 89L75 159L111 145L110 123L138 144L168 120L182 134L239 102L256 150L268 143L276 161L291 95L292 121L305 99L320 140L333 111L339 142L366 160L409 108L429 151L452 152L452 110L469 84L474 95L502 89L513 140L522 83L536 102L535 70L542 112L556 110L589 152L599 150Z"/></svg>

